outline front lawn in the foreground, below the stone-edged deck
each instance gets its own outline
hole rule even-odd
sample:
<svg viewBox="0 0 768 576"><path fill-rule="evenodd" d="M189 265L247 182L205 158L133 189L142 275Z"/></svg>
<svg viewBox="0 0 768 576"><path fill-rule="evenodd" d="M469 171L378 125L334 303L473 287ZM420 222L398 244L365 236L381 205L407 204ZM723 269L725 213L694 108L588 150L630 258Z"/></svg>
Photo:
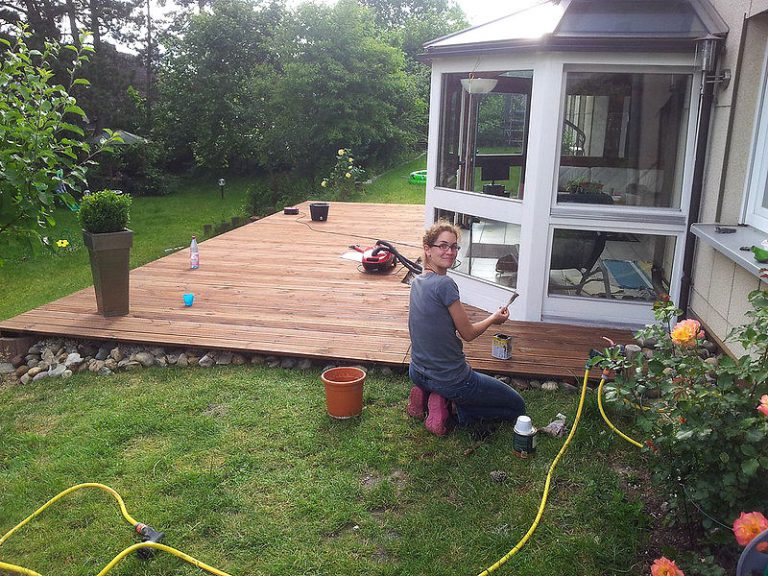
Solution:
<svg viewBox="0 0 768 576"><path fill-rule="evenodd" d="M0 388L0 533L59 491L95 481L165 543L233 575L471 575L527 531L563 440L513 456L512 431L446 438L405 415L406 376L369 375L363 416L334 421L319 373L150 369ZM576 396L526 393L542 424ZM641 574L641 502L622 488L635 456L594 398L561 461L544 520L499 574ZM507 473L496 483L490 472ZM0 548L42 574L92 575L134 542L98 490L61 500ZM198 574L160 554L112 574Z"/></svg>

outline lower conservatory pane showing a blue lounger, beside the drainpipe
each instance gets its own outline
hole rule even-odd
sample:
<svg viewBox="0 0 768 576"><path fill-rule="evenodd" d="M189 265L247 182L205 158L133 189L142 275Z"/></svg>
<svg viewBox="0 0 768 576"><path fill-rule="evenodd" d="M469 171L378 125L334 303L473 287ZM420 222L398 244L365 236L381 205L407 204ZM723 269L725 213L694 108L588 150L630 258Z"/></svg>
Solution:
<svg viewBox="0 0 768 576"><path fill-rule="evenodd" d="M668 293L675 238L555 229L549 295L653 302Z"/></svg>

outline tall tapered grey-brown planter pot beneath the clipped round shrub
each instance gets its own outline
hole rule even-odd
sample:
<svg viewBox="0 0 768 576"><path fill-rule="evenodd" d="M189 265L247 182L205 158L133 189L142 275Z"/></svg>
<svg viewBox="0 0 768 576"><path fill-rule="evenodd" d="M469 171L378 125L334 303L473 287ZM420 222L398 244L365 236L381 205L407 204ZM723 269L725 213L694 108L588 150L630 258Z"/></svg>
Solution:
<svg viewBox="0 0 768 576"><path fill-rule="evenodd" d="M83 230L83 241L91 258L96 306L102 316L128 314L130 254L133 232L91 234Z"/></svg>

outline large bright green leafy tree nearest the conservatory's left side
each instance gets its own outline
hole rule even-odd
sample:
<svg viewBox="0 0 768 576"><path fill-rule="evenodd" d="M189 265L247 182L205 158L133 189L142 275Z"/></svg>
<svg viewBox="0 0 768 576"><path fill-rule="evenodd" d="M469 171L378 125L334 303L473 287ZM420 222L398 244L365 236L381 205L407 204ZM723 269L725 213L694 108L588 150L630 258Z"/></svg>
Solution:
<svg viewBox="0 0 768 576"><path fill-rule="evenodd" d="M369 10L353 0L304 4L287 32L270 132L285 164L314 176L338 149L353 148L363 165L380 168L413 144L417 110L403 54L380 38Z"/></svg>

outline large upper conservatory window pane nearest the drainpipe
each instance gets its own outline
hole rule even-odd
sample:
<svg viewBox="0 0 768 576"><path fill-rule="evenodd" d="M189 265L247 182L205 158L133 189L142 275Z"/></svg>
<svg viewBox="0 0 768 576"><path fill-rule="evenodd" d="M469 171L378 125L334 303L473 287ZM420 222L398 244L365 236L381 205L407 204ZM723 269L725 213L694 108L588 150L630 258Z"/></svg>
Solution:
<svg viewBox="0 0 768 576"><path fill-rule="evenodd" d="M679 208L691 77L566 76L558 203Z"/></svg>

